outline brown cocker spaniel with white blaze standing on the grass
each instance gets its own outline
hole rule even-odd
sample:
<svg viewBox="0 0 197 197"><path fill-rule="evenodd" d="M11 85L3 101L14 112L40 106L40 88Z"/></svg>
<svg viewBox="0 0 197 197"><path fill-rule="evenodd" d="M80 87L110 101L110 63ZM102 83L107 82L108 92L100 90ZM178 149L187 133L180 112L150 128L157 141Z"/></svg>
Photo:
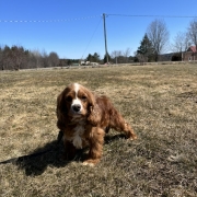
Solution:
<svg viewBox="0 0 197 197"><path fill-rule="evenodd" d="M72 159L77 149L89 146L84 165L93 166L100 161L105 129L124 131L130 140L137 138L106 96L97 96L78 83L68 85L58 96L57 119L57 127L63 132L67 159Z"/></svg>

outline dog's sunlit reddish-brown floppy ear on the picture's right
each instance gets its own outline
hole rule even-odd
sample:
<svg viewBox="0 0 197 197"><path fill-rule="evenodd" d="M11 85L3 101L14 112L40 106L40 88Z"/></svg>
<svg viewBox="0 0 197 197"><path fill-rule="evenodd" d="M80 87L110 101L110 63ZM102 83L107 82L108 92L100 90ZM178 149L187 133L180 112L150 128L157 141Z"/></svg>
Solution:
<svg viewBox="0 0 197 197"><path fill-rule="evenodd" d="M90 95L89 95L88 121L93 126L97 126L99 123L101 121L100 107L99 107L99 105L96 103L96 99L95 99L94 94L92 94L92 93L90 93Z"/></svg>

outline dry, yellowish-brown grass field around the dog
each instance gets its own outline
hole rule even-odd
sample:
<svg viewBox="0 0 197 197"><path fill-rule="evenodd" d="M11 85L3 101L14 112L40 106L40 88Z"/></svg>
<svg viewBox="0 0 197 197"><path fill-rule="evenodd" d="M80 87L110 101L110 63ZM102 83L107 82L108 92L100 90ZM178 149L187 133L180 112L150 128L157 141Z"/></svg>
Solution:
<svg viewBox="0 0 197 197"><path fill-rule="evenodd" d="M61 159L56 99L72 82L111 97L138 136L111 130L95 167ZM197 65L0 72L0 161L27 155L0 165L2 197L195 197Z"/></svg>

